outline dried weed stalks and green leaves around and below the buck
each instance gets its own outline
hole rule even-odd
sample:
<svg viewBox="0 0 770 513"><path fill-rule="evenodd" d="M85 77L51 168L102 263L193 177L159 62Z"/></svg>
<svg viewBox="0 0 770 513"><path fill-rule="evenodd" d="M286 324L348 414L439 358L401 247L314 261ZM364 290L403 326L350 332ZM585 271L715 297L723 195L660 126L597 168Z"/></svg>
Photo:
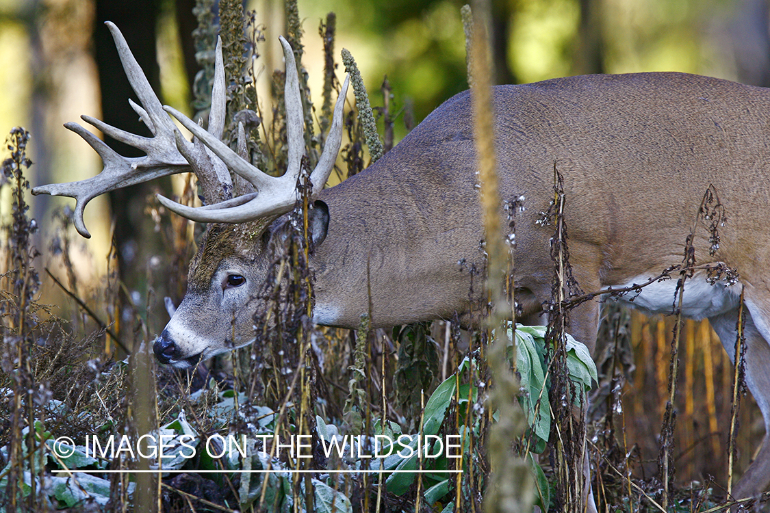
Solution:
<svg viewBox="0 0 770 513"><path fill-rule="evenodd" d="M246 48L249 56L257 55L261 35L256 18L239 12L240 2L220 5L229 9L228 15L221 18L223 24L230 24L223 27L223 32L233 36L228 39L233 48L228 70L230 93L236 101L230 104L229 120L250 123L249 158L260 168L280 172L286 160L282 98L278 94L274 105L263 105L253 87L254 69L244 68L248 59L244 60L244 53L239 51ZM289 3L287 9L287 18L299 19L296 4ZM205 68L213 18L205 9L200 13L199 52ZM326 18L320 31L329 62L336 60L330 50L333 20ZM301 53L299 25L293 25L290 35L294 48ZM302 66L299 58L297 62ZM209 90L207 76L204 72L199 77L203 82L200 91ZM276 91L281 90L282 81L283 75L276 72ZM333 72L327 72L324 105L337 87L339 82ZM307 92L304 85L303 101L312 105ZM389 96L386 99L396 101ZM380 119L389 119L392 112L387 105L371 111ZM205 112L205 95L196 95L195 106ZM366 106L358 108L365 110ZM329 109L315 111L315 115L321 127L329 124ZM314 126L313 119L306 121L310 161L323 144L323 135ZM370 156L365 148L371 151L377 138L371 130L365 133L354 115L346 118L346 132L349 142L343 149L341 178L366 165ZM499 388L504 379L500 368L508 367L490 369L486 357L494 346L510 355L511 366L517 369L515 377L521 380L523 390L518 401L528 426L512 444L509 440L507 446L503 445L497 455L522 457L534 477L533 495L541 508L567 511L574 506L575 488L570 488L570 483L581 475L575 465L580 452L570 447L568 440L564 442L566 437L559 438L570 429L565 428L565 423L572 417L564 411L584 404L594 381L598 386L591 391L591 404L598 408L591 412L589 424L579 427L578 434L580 430L590 434L591 460L598 475L594 494L600 508L606 505L611 511L659 511L658 505L665 504L669 511L706 511L728 505L723 500L724 491L709 481L669 488L668 481L673 482L673 478L650 477L644 471L646 462L641 461L640 449L627 445L626 440L633 444L634 438L626 426L636 417L634 414L629 419L625 412L645 406L629 407L621 400L624 379L634 366L631 352L624 347L644 335L634 338L624 313L611 311L608 315L604 339L614 351L600 360L598 373L584 349L557 326L563 319L560 315L554 315L554 324L548 328L517 327L514 334L511 327L510 335L498 322L490 326L497 328L497 341L502 341L497 345L490 343L494 341L492 329L462 331L457 321L402 326L390 332L370 329L367 318L362 318L357 331L310 325L312 283L300 221L305 198L295 214L298 217L294 225L298 228L287 240L282 258L276 261L273 279L265 289L271 308L255 312L255 344L231 358L219 358L208 370L185 374L157 368L149 348L153 334L165 324L157 314L165 301L156 291L168 291L172 305L179 302L184 290L184 266L195 251L196 234L186 222L150 203L149 215L166 241L167 252L152 255L143 266L148 292L146 297L137 298L122 288L113 273L96 288L83 285L73 264L71 212L62 211L55 216L61 228L59 236L46 250L60 259L66 283L53 281L53 275L52 281L41 280L36 271L38 252L33 245L37 224L28 217L25 200L28 183L24 172L31 164L25 153L28 137L21 128L12 132L8 138L11 155L3 163L0 176L0 186L10 189L12 196L12 220L5 226L0 250L4 265L0 275L0 505L5 511L395 512L490 508L484 505L490 473L500 468L490 454L490 429L503 413L508 413L502 410L510 409L499 406L500 402L490 403L490 391ZM554 169L558 198L561 193L555 175ZM182 195L192 202L195 192L195 185L188 180ZM513 231L517 207L515 202L508 206ZM568 204L565 208L569 208ZM557 241L563 242L566 249L566 232L559 231L564 227L558 215L551 213L546 222L554 225ZM114 270L114 248L107 258L108 268ZM558 256L554 261L562 268L567 263ZM288 281L281 281L280 269L286 266L293 271ZM473 268L467 271L478 274ZM483 282L484 277L478 278ZM569 287L567 281L557 282L556 294ZM69 309L57 311L63 318L40 302L41 287L59 288L62 297L68 298L62 303ZM561 303L554 301L554 305ZM644 325L638 329L644 331ZM687 336L683 339L685 345L691 343ZM688 355L695 354L694 350L688 351ZM656 365L662 368L668 367L668 354L666 348L659 348L654 355L643 354L641 358L662 361L663 365ZM644 370L648 369L648 361L644 368L638 366L645 383L654 382L664 389L670 381L675 383L665 373L662 378L651 378L654 373ZM704 367L704 372L716 374L717 369L730 377L731 371L718 365L712 361L711 370ZM694 368L695 363L690 361L688 367ZM513 378L514 374L510 374ZM714 378L711 381L713 384ZM653 391L659 389L648 386ZM680 394L693 395L695 386L695 379L685 375L685 392ZM571 401L561 401L567 389L575 395ZM665 390L663 395L676 395L675 385L672 390ZM716 410L722 403L714 394L712 388L708 408ZM680 419L681 424L686 421ZM146 445L129 444L119 450L124 437L136 441L147 434L155 435L156 440L161 435L169 436L164 455L170 458L160 463L158 458L135 461L142 458L132 457L132 451L152 452L149 439ZM171 435L179 437L179 443L170 441ZM247 443L239 435L246 435ZM407 436L403 439L405 445L377 445L378 440L397 440L402 435ZM422 435L421 440L426 436L459 435L461 458L429 458L425 452L413 452L408 458L361 456L371 451L383 454L392 448L413 449L418 440L414 435ZM292 458L288 449L279 451L276 457L269 456L266 448L276 448L276 439L288 444L290 440L302 440L300 436L307 437L308 446L301 454L309 458ZM114 457L106 451L110 439L118 449ZM349 443L346 451L327 450L331 441L340 440ZM436 438L430 440L434 445L427 454L435 455ZM245 454L241 454L242 449ZM534 456L541 453L544 456ZM211 457L220 454L219 458ZM672 456L668 453L665 458L668 461ZM159 466L162 479L156 473L141 472ZM371 472L333 473L353 468ZM429 472L396 472L414 468ZM461 474L447 472L460 468ZM67 469L89 473L72 474ZM243 472L257 470L273 472Z"/></svg>

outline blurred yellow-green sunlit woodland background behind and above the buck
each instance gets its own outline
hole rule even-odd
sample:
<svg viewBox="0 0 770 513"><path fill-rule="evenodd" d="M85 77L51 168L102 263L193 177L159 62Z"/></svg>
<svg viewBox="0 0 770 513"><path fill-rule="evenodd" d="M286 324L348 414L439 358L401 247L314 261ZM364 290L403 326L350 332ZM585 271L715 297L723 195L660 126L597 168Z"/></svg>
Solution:
<svg viewBox="0 0 770 513"><path fill-rule="evenodd" d="M86 178L99 172L99 158L62 128L79 115L101 117L98 70L92 38L97 4L92 0L0 1L0 128L32 132L32 185ZM110 0L102 2L109 5ZM162 101L189 112L189 87L182 62L173 0L114 2L148 4L142 24L153 25ZM194 4L194 2L186 2ZM762 0L518 0L494 4L497 82L526 83L591 72L680 71L766 85L768 14ZM417 122L451 95L467 88L462 2L427 0L300 0L306 32L304 64L313 94L320 95L323 68L320 21L337 19L336 50L357 59L367 88L378 99L387 76L396 108L413 105ZM283 3L246 2L265 25L258 66L267 80L282 67L276 38L283 28ZM132 8L129 8L130 11ZM103 8L102 8L103 10ZM115 20L120 25L121 20ZM341 72L340 72L341 75ZM263 98L269 90L264 88ZM111 98L127 107L126 98ZM411 108L407 108L411 110ZM404 111L406 113L406 111ZM402 115L403 118L403 115ZM403 136L397 123L397 137ZM7 200L7 198L5 198ZM69 200L35 198L35 215ZM109 233L106 201L86 209L98 253ZM4 201L2 205L7 205ZM2 207L0 205L0 207ZM8 215L8 208L0 209ZM100 242L101 241L101 242ZM99 264L88 265L90 271Z"/></svg>

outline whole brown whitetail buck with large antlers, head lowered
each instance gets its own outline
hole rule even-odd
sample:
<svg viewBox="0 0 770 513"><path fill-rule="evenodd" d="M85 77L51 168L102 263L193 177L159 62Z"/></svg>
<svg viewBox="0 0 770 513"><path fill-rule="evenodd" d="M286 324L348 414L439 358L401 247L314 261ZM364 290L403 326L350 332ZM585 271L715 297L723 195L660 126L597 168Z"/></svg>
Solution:
<svg viewBox="0 0 770 513"><path fill-rule="evenodd" d="M296 66L282 40L289 167L283 177L273 178L219 141L225 112L221 55L208 132L166 108L196 135L191 144L176 132L122 35L114 25L109 28L143 108L132 106L154 136L142 138L84 119L142 149L146 157L122 158L84 128L68 124L99 153L104 171L33 192L77 198L76 227L88 236L82 212L96 195L175 172L196 172L209 205L188 208L160 198L174 212L211 223L190 264L186 296L155 342L159 361L187 367L253 340L257 291L286 229L286 217L278 216L295 203L303 156ZM318 198L310 212L314 321L354 328L370 311L375 327L455 313L467 325L476 324L473 312L481 308L474 302L482 298L469 298L471 278L458 265L463 258L484 265L469 93L450 98L365 171L321 190L340 147L345 93L346 84L311 176ZM551 297L553 228L536 221L553 198L554 161L564 174L571 265L584 291L639 284L680 263L701 198L713 185L728 220L713 257L708 233L695 234L698 264L736 268L739 284L710 285L705 271L696 271L685 285L683 313L708 318L734 359L745 287L748 388L770 431L770 223L765 211L770 206L770 91L680 73L593 75L497 87L494 112L500 195L526 198L516 222L516 296L524 322L541 323L542 305ZM233 190L245 194L233 195ZM670 312L674 288L675 280L656 282L632 305ZM589 348L595 344L599 308L598 301L588 301L571 314L571 334ZM765 491L768 481L765 435L735 496Z"/></svg>

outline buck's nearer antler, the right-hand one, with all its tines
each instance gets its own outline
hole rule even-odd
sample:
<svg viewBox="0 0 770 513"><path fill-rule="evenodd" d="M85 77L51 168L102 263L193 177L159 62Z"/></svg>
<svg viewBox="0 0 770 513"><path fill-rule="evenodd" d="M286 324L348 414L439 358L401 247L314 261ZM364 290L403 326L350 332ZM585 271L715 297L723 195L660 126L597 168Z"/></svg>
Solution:
<svg viewBox="0 0 770 513"><path fill-rule="evenodd" d="M203 207L192 208L186 205L172 202L168 198L158 195L159 202L166 206L172 212L176 212L183 217L199 222L248 222L256 218L262 218L269 215L279 215L288 212L296 201L296 180L300 175L303 146L303 109L300 98L300 81L297 77L296 64L291 46L286 39L280 37L283 45L283 55L286 58L286 85L284 97L286 99L286 139L289 146L288 161L286 173L280 177L267 175L266 173L254 167L243 158L240 158L236 152L233 152L227 145L206 132L191 119L187 118L181 112L171 107L165 107L166 111L177 118L182 125L187 128L196 138L199 138L217 157L230 168L234 173L245 178L251 183L257 192L242 195L216 205L206 205ZM342 91L337 98L334 107L332 125L329 129L329 136L326 138L326 145L323 153L310 174L310 182L313 183L312 195L318 194L326 184L336 161L336 155L340 152L342 142L342 111L347 93L349 78L345 78Z"/></svg>

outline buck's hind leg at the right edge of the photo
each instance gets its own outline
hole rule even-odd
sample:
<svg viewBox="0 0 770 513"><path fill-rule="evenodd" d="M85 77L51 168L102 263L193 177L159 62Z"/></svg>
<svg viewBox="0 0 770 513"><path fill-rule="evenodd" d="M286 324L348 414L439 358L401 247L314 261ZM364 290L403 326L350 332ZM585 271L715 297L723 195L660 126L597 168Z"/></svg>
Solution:
<svg viewBox="0 0 770 513"><path fill-rule="evenodd" d="M733 487L732 495L735 498L747 498L758 495L768 489L770 485L770 334L763 333L758 325L766 325L762 319L762 311L752 308L748 301L748 308L744 309L746 340L746 385L752 391L757 401L762 417L765 420L765 438L762 447L752 464L748 466L742 478ZM738 335L736 325L738 322L738 309L728 311L722 315L708 319L711 326L719 335L719 339L728 352L731 361L735 363L735 339ZM759 321L759 322L757 322ZM765 330L766 331L766 330Z"/></svg>

